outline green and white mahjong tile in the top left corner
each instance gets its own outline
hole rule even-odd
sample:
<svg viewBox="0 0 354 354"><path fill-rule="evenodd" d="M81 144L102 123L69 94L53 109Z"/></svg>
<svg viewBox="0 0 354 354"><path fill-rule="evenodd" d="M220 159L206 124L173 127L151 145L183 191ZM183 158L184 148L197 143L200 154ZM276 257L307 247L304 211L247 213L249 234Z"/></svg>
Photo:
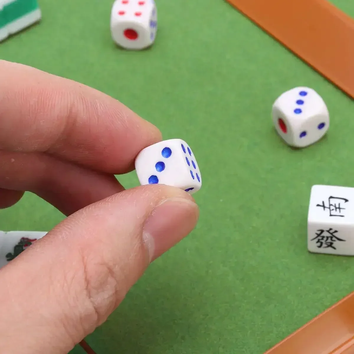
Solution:
<svg viewBox="0 0 354 354"><path fill-rule="evenodd" d="M0 0L0 41L38 22L37 0Z"/></svg>

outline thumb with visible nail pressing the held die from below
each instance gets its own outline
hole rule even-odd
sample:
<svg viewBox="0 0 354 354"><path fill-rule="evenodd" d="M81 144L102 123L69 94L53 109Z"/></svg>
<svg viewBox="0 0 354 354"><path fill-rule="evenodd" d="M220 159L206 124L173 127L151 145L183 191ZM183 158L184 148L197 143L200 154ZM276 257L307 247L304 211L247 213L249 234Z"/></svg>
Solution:
<svg viewBox="0 0 354 354"><path fill-rule="evenodd" d="M193 198L166 185L125 190L66 218L0 270L1 352L68 353L197 219Z"/></svg>

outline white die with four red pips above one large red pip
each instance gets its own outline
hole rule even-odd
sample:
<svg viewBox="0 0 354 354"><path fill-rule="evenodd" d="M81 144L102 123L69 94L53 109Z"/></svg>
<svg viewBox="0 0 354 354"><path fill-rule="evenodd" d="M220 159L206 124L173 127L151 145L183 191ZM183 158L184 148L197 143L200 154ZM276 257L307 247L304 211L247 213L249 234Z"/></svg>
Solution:
<svg viewBox="0 0 354 354"><path fill-rule="evenodd" d="M110 30L113 41L126 49L144 49L153 44L157 9L153 0L116 0Z"/></svg>

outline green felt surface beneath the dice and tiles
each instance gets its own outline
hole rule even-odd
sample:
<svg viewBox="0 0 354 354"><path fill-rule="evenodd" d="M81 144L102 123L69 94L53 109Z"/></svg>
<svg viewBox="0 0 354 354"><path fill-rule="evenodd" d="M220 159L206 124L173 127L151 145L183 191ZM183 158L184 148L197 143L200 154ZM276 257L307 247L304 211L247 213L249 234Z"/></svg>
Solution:
<svg viewBox="0 0 354 354"><path fill-rule="evenodd" d="M354 16L353 2L333 2ZM0 58L95 87L185 139L202 172L196 229L87 342L97 354L261 354L354 290L354 258L306 242L311 186L354 186L353 102L223 0L157 0L156 43L142 52L113 44L111 5L41 0L42 22L0 45ZM301 85L325 99L331 127L293 150L270 108ZM135 172L121 181L138 184ZM62 219L31 194L0 212L5 230Z"/></svg>

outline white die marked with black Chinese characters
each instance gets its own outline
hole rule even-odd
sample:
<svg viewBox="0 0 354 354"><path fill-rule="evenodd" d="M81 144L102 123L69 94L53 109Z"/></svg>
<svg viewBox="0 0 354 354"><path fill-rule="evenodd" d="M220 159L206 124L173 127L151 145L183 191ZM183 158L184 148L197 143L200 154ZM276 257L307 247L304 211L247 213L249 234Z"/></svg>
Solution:
<svg viewBox="0 0 354 354"><path fill-rule="evenodd" d="M354 188L312 187L307 247L315 253L354 256Z"/></svg>

